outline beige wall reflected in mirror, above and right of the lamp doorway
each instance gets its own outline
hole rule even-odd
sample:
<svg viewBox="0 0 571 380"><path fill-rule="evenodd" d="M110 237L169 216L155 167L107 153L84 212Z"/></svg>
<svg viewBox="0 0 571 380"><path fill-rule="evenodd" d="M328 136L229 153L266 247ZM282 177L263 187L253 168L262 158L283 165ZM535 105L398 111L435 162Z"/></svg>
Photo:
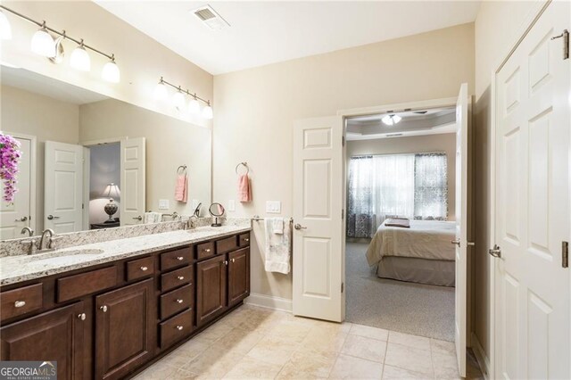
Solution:
<svg viewBox="0 0 571 380"><path fill-rule="evenodd" d="M194 126L115 99L79 107L79 141L120 137L145 137L145 209L159 211L159 199L167 199L170 210L190 215L192 200L211 201L211 128ZM174 199L177 168L188 167L188 202Z"/></svg>

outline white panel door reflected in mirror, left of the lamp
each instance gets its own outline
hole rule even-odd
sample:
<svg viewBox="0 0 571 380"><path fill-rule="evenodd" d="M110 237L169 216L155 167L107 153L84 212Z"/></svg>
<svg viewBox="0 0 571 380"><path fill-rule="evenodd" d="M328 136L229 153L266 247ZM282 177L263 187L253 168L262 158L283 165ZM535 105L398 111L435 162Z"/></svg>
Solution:
<svg viewBox="0 0 571 380"><path fill-rule="evenodd" d="M44 228L83 229L83 146L46 141Z"/></svg>

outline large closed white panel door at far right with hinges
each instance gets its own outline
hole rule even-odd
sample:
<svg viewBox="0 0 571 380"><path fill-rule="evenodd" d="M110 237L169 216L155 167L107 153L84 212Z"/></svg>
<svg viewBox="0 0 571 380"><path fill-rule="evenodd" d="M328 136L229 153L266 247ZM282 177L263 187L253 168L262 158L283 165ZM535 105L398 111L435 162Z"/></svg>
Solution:
<svg viewBox="0 0 571 380"><path fill-rule="evenodd" d="M496 75L495 374L568 379L569 2L553 2ZM498 250L500 251L500 250Z"/></svg>

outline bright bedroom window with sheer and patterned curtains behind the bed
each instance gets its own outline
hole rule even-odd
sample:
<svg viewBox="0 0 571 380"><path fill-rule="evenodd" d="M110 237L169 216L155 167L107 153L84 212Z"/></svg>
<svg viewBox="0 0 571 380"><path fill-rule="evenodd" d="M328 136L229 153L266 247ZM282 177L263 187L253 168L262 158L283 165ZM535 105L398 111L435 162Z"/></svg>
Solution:
<svg viewBox="0 0 571 380"><path fill-rule="evenodd" d="M352 157L348 182L349 237L371 237L390 217L448 216L445 153Z"/></svg>

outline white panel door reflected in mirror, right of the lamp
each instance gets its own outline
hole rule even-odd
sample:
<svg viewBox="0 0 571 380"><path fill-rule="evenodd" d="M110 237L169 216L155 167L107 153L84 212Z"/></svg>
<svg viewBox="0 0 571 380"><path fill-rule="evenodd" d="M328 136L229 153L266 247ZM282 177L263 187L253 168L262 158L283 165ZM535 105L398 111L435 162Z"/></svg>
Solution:
<svg viewBox="0 0 571 380"><path fill-rule="evenodd" d="M145 137L120 141L120 224L139 224L145 214Z"/></svg>

